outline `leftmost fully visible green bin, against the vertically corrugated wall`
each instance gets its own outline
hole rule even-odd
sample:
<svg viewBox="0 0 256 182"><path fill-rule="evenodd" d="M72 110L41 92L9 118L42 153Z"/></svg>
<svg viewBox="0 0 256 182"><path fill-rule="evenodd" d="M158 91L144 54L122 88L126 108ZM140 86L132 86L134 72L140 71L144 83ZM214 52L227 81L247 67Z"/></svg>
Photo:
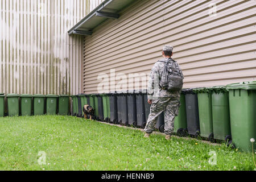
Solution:
<svg viewBox="0 0 256 182"><path fill-rule="evenodd" d="M7 109L9 116L19 115L19 94L7 94Z"/></svg>

